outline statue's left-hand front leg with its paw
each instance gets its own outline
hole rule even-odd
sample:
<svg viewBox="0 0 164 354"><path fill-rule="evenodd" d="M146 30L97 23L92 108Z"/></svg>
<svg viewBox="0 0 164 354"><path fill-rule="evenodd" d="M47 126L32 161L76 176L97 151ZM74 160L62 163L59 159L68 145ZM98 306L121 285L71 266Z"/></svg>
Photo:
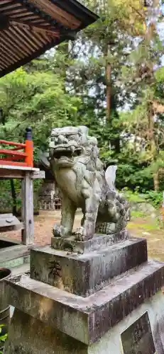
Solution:
<svg viewBox="0 0 164 354"><path fill-rule="evenodd" d="M76 209L76 205L69 198L62 197L62 219L60 225L54 225L53 236L69 237L72 234Z"/></svg>

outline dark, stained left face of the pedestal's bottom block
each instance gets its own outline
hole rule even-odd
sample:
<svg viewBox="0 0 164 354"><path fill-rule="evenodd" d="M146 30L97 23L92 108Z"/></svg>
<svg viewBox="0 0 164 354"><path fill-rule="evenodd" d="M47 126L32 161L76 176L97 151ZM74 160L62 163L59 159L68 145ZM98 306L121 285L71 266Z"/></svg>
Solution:
<svg viewBox="0 0 164 354"><path fill-rule="evenodd" d="M87 346L15 310L5 354L87 354Z"/></svg>

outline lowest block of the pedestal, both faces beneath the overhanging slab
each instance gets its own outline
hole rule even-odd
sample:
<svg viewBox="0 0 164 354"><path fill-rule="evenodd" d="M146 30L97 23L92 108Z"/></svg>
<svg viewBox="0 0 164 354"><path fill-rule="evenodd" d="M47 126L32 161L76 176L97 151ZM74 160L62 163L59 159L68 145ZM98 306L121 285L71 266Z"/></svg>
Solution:
<svg viewBox="0 0 164 354"><path fill-rule="evenodd" d="M148 317L149 328L131 333L141 316ZM67 326L71 324L67 323ZM125 331L129 337L124 338ZM129 345L126 345L127 343ZM143 345L144 343L144 345ZM126 349L125 349L126 346ZM130 346L130 348L129 348ZM129 351L130 350L130 351ZM137 351L139 350L139 351ZM142 351L141 351L142 350ZM158 292L119 322L104 336L89 345L67 336L38 319L15 310L6 342L5 354L163 354L164 353L164 295Z"/></svg>

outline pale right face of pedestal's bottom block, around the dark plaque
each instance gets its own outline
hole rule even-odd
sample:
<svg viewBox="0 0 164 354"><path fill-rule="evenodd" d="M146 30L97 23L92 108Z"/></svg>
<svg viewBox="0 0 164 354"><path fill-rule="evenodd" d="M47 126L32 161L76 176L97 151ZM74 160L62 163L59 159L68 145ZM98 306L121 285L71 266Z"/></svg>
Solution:
<svg viewBox="0 0 164 354"><path fill-rule="evenodd" d="M122 333L133 326L135 321L138 321L143 314L148 312L148 317L151 324L151 331L153 333L153 341L155 344L155 350L153 354L163 354L164 353L164 296L161 292L155 294L151 299L146 300L141 306L135 309L131 314L124 317L122 321L114 326L110 331L97 342L89 346L89 354L127 354L123 343L121 341ZM140 340L141 327L139 331L136 331L136 348L131 346L131 354L150 354L148 345L143 338L144 346L143 350L137 346L137 341ZM129 343L131 343L130 334ZM140 343L141 344L141 343ZM150 345L150 341L148 343ZM135 350L136 349L136 350Z"/></svg>

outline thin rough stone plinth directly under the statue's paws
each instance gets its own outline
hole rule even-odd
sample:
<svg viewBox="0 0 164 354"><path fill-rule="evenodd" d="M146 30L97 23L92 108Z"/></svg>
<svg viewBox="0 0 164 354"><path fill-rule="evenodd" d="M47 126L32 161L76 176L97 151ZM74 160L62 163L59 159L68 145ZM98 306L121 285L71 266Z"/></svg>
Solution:
<svg viewBox="0 0 164 354"><path fill-rule="evenodd" d="M101 247L107 247L116 242L124 241L129 238L128 230L122 230L116 234L94 234L93 239L87 241L76 241L75 236L67 237L52 237L51 246L53 249L62 249L63 251L72 251L77 253L86 253L97 251Z"/></svg>

